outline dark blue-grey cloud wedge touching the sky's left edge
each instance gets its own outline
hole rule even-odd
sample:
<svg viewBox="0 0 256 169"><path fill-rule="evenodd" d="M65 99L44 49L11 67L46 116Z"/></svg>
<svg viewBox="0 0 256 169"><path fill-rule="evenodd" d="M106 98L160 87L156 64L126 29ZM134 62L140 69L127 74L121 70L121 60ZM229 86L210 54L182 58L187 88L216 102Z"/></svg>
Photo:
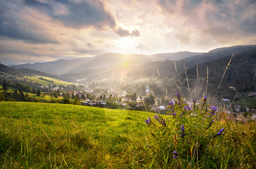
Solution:
<svg viewBox="0 0 256 169"><path fill-rule="evenodd" d="M15 17L7 6L0 7L0 36L13 40L24 40L31 44L58 44L50 34L40 31L40 28L33 23Z"/></svg>

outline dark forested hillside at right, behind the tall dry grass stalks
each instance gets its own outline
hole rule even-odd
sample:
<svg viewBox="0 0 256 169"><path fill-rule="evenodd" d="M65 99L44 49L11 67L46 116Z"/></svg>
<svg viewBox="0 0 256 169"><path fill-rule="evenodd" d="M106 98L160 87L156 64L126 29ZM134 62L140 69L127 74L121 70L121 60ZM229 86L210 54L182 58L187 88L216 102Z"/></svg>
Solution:
<svg viewBox="0 0 256 169"><path fill-rule="evenodd" d="M232 55L219 58L214 61L198 64L198 78L207 77L208 66L208 84L212 90L217 90L225 68ZM256 49L237 53L231 59L231 63L225 72L221 83L222 88L235 87L238 91L254 90L256 91ZM187 75L190 80L197 79L196 66L187 69ZM180 74L185 78L184 72Z"/></svg>

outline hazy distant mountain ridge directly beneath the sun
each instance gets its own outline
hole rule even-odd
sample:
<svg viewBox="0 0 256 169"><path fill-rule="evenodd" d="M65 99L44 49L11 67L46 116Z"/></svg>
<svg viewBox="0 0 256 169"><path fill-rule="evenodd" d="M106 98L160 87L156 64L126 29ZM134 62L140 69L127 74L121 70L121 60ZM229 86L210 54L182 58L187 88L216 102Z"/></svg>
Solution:
<svg viewBox="0 0 256 169"><path fill-rule="evenodd" d="M202 53L184 52L184 57L189 57L192 55L198 55ZM118 65L124 62L137 61L136 65L139 63L146 63L151 61L160 61L165 59L182 59L182 52L167 53L162 55L142 55L142 54L120 54L120 53L104 53L94 57L85 57L83 59L74 60L58 60L54 62L46 63L34 63L34 64L22 64L12 66L13 68L31 68L34 70L39 70L42 72L62 75L62 74L74 74L81 72L83 70L105 68L113 65Z"/></svg>

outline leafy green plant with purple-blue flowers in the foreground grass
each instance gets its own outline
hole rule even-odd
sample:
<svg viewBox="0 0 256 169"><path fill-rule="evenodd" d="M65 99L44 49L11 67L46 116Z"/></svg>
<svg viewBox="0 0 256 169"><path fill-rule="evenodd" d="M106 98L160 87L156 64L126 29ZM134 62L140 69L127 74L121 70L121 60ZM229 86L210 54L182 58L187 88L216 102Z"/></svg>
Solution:
<svg viewBox="0 0 256 169"><path fill-rule="evenodd" d="M154 145L150 147L153 147L155 152L159 151L162 158L169 156L170 159L177 159L179 154L179 158L188 160L189 163L195 158L192 154L195 152L196 145L200 145L198 154L201 156L198 155L198 158L202 158L207 154L207 149L213 143L214 138L225 134L224 128L218 131L217 126L220 122L214 119L217 107L211 106L208 109L206 95L199 103L194 99L192 105L185 103L178 92L175 99L175 101L169 101L170 111L167 113L173 118L164 119L160 114L156 114L153 120L150 117L145 120L153 136L150 140ZM216 125L212 125L213 123ZM218 133L215 134L217 131ZM172 156L169 151L173 151Z"/></svg>

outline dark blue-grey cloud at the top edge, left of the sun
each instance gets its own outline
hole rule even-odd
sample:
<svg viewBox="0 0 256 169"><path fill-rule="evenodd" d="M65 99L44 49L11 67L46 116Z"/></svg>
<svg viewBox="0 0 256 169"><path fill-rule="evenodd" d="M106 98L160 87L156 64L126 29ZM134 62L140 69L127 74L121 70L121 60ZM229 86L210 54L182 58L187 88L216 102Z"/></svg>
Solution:
<svg viewBox="0 0 256 169"><path fill-rule="evenodd" d="M49 3L44 3L37 0L25 0L24 4L30 8L47 13L47 15L60 21L66 27L81 28L84 26L95 26L100 29L103 29L105 26L115 27L114 17L105 10L102 2L53 0ZM55 13L60 5L65 6L67 13Z"/></svg>

